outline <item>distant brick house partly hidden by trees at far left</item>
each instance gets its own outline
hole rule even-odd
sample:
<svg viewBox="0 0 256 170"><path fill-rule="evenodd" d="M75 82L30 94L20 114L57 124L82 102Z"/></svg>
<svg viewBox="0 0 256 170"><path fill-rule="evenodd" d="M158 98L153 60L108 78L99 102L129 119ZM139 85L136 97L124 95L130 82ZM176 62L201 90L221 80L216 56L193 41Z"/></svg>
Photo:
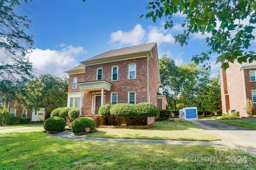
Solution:
<svg viewBox="0 0 256 170"><path fill-rule="evenodd" d="M45 120L45 108L40 108L38 111L25 109L15 102L8 103L6 108L10 111L11 117L30 118L31 121Z"/></svg>

